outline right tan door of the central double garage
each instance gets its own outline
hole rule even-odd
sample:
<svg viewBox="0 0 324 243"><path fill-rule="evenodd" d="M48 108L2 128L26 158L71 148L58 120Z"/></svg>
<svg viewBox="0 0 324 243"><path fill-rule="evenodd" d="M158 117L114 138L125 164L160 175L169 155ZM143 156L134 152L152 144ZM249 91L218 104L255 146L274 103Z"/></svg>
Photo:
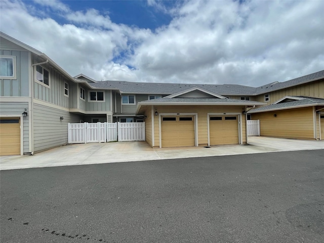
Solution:
<svg viewBox="0 0 324 243"><path fill-rule="evenodd" d="M238 144L237 116L210 116L211 145Z"/></svg>

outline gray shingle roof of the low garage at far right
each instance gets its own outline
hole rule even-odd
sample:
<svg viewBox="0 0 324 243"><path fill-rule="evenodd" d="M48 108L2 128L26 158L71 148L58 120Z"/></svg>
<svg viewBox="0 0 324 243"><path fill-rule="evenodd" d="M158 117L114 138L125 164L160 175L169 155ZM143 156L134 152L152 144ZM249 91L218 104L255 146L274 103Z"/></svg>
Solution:
<svg viewBox="0 0 324 243"><path fill-rule="evenodd" d="M248 113L265 112L265 111L270 111L270 110L281 110L281 109L287 109L287 108L297 108L297 107L302 107L302 106L324 105L324 99L305 97L305 96L293 96L293 97L298 97L298 98L303 98L303 99L254 108L254 109L248 111Z"/></svg>

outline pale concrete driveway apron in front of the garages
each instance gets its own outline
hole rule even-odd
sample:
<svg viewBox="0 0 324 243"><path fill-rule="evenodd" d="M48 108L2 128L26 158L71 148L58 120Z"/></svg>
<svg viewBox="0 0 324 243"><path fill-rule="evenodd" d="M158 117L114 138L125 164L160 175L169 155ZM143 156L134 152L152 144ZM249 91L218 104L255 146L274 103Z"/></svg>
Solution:
<svg viewBox="0 0 324 243"><path fill-rule="evenodd" d="M69 144L34 155L1 156L0 170L324 149L324 141L249 137L248 145L151 148L146 142Z"/></svg>

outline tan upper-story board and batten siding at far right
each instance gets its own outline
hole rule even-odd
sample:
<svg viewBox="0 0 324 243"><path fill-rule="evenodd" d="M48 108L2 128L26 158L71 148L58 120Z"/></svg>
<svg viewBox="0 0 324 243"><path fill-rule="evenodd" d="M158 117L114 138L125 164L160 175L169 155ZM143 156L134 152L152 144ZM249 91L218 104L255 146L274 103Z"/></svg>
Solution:
<svg viewBox="0 0 324 243"><path fill-rule="evenodd" d="M267 104L272 104L277 100L285 97L285 96L308 96L308 97L315 97L315 98L322 98L324 99L324 79L316 80L311 83L282 89L278 91L269 92L270 100ZM265 102L264 95L258 95L256 97L256 101Z"/></svg>

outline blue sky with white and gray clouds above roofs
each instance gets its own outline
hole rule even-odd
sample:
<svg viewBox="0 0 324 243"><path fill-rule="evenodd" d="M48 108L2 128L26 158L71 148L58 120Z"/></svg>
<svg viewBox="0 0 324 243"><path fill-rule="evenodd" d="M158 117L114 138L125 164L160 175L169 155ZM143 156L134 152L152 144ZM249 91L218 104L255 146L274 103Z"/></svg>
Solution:
<svg viewBox="0 0 324 243"><path fill-rule="evenodd" d="M252 87L324 69L324 1L0 1L0 30L70 75Z"/></svg>

